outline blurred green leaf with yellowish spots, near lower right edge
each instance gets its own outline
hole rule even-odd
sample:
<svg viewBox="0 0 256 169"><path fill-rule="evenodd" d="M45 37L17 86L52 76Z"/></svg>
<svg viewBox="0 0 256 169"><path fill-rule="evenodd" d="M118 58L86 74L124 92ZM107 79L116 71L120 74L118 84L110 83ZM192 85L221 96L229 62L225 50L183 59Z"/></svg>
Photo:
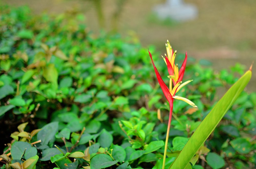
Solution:
<svg viewBox="0 0 256 169"><path fill-rule="evenodd" d="M241 154L249 153L252 147L251 143L245 138L237 138L230 141L230 144L235 149L235 151Z"/></svg>

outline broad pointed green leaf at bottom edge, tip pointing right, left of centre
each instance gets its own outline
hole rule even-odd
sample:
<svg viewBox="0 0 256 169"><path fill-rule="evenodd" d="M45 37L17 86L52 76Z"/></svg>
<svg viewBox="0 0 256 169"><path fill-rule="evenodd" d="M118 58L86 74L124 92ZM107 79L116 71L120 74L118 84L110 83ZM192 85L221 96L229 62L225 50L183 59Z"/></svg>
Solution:
<svg viewBox="0 0 256 169"><path fill-rule="evenodd" d="M115 165L118 160L113 161L107 154L98 154L91 159L91 169L100 169Z"/></svg>

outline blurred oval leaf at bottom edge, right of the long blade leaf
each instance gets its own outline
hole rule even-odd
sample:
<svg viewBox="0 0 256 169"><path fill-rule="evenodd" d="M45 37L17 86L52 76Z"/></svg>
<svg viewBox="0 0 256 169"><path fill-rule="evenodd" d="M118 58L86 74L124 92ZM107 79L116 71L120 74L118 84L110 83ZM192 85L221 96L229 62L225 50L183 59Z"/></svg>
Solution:
<svg viewBox="0 0 256 169"><path fill-rule="evenodd" d="M223 158L216 153L208 153L206 161L213 169L219 169L225 165Z"/></svg>

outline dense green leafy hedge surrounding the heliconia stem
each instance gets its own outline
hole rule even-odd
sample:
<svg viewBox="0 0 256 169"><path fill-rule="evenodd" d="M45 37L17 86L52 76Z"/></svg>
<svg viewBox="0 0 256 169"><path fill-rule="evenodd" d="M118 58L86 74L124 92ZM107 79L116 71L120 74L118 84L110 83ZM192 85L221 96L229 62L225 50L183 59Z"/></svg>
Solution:
<svg viewBox="0 0 256 169"><path fill-rule="evenodd" d="M1 168L161 168L169 106L148 49L132 37L96 37L77 13L0 11ZM162 62L156 60L161 74ZM194 81L180 94L198 108L174 101L167 168L212 109L216 91L244 70L213 71L189 57L186 76ZM256 93L243 92L188 168L255 167L255 106Z"/></svg>

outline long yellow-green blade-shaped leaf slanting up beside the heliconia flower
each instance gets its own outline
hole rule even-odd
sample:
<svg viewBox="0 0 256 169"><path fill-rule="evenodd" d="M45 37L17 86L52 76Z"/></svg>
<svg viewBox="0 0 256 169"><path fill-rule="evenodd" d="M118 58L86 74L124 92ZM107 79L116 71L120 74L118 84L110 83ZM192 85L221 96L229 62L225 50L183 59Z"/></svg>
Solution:
<svg viewBox="0 0 256 169"><path fill-rule="evenodd" d="M204 118L198 126L188 143L182 149L177 159L169 168L185 168L189 161L196 154L198 149L209 137L214 128L218 125L222 117L229 110L247 83L250 81L252 72L248 70L233 86L227 91L220 101L213 107L211 112Z"/></svg>

